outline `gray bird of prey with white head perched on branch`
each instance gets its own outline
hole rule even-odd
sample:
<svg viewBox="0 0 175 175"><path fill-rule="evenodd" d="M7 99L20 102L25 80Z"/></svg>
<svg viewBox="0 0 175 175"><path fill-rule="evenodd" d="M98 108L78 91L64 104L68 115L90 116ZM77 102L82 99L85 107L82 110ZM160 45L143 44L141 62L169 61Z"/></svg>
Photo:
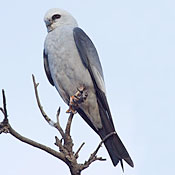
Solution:
<svg viewBox="0 0 175 175"><path fill-rule="evenodd" d="M44 16L47 36L44 41L44 69L51 85L55 86L69 112L77 112L104 140L114 166L123 160L134 163L119 138L106 97L104 75L97 50L76 19L59 8L48 10ZM74 95L86 95L79 104ZM77 91L78 90L78 91ZM76 108L75 108L76 106Z"/></svg>

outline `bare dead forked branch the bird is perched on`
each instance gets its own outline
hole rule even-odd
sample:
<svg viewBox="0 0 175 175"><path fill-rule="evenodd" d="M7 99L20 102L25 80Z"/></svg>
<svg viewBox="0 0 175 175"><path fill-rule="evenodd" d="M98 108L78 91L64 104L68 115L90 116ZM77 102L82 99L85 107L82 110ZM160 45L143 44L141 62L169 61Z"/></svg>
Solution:
<svg viewBox="0 0 175 175"><path fill-rule="evenodd" d="M32 79L33 79L33 84L34 84L34 90L35 90L35 96L36 96L36 101L37 101L37 105L40 109L40 112L42 114L42 116L44 117L44 119L47 121L47 123L49 123L49 125L51 125L52 127L56 128L59 133L61 134L62 138L59 139L57 136L55 136L55 145L59 148L59 151L55 151L54 149L47 147L43 144L40 144L38 142L35 142L31 139L28 139L22 135L20 135L18 132L16 132L10 125L9 121L8 121L8 115L7 115L7 107L6 107L6 97L5 97L5 92L4 90L2 90L2 96L3 96L3 107L0 107L0 111L2 112L4 119L2 122L0 122L0 134L1 133L10 133L12 136L14 136L15 138L17 138L18 140L27 143L33 147L39 148L49 154L51 154L54 157L57 157L58 159L62 160L63 162L65 162L72 175L80 175L81 172L88 168L90 166L91 163L93 163L96 160L100 160L100 161L104 161L106 159L103 159L102 157L97 157L97 152L100 149L102 143L111 135L106 136L98 145L98 147L96 148L96 150L90 155L88 161L85 161L84 164L80 164L77 162L77 159L79 157L79 152L82 149L83 145L85 143L82 143L82 145L79 147L79 149L76 151L76 153L74 153L73 151L73 140L71 138L70 135L70 129L71 129L71 124L72 124L72 120L73 120L73 116L74 113L70 113L68 121L67 121L67 125L66 125L66 129L65 131L62 129L60 122L59 122L59 117L60 117L60 108L57 111L57 121L54 122L51 120L51 118L46 114L46 112L44 111L40 99L39 99L39 95L38 95L38 85L39 83L36 83L35 81L35 77L34 75L32 75Z"/></svg>

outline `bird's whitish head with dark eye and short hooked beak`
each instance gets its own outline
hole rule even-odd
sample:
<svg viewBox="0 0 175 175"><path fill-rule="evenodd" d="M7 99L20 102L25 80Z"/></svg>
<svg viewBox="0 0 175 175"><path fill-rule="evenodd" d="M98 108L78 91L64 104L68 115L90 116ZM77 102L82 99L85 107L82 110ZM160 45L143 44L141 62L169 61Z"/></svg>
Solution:
<svg viewBox="0 0 175 175"><path fill-rule="evenodd" d="M77 26L75 18L70 13L58 8L48 10L44 16L44 22L48 32L62 25Z"/></svg>

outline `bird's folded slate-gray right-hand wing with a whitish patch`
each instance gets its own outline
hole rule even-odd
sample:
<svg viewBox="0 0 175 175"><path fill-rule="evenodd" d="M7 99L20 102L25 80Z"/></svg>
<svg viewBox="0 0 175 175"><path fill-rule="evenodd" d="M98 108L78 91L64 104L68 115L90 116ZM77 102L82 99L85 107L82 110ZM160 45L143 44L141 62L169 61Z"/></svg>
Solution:
<svg viewBox="0 0 175 175"><path fill-rule="evenodd" d="M105 87L103 87L104 86L103 71L96 48L92 43L92 41L90 40L90 38L86 35L86 33L82 29L78 27L74 28L73 35L82 63L88 69L91 78L93 80L97 101L100 103L100 106L105 110L107 117L110 120L110 123L109 122L108 123L111 126L109 127L112 127L114 129L112 116L110 113L110 109L104 91Z"/></svg>

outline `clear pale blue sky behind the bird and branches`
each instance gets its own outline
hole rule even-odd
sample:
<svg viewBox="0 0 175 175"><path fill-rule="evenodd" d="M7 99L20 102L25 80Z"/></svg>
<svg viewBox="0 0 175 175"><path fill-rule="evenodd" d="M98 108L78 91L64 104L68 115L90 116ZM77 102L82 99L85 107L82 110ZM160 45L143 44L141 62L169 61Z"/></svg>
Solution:
<svg viewBox="0 0 175 175"><path fill-rule="evenodd" d="M61 106L65 126L67 106L49 84L42 59L47 34L43 16L50 8L63 8L77 19L98 50L116 130L135 164L133 169L125 163L124 174L173 174L175 1L1 0L0 4L0 89L5 89L9 120L16 131L57 149L54 137L59 134L39 112L31 75L40 83L45 111L54 120ZM100 139L79 115L73 119L71 134L75 151L86 142L79 158L84 162ZM104 147L98 155L107 161L93 163L82 175L122 174ZM70 174L60 160L10 134L0 135L0 157L1 174Z"/></svg>

